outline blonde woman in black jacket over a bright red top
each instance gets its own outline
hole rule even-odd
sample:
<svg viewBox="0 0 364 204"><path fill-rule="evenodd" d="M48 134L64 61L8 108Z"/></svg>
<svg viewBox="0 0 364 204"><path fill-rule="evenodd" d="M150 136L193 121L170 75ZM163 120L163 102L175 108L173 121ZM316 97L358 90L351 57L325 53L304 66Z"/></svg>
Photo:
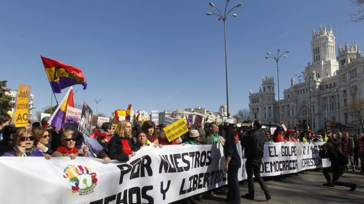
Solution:
<svg viewBox="0 0 364 204"><path fill-rule="evenodd" d="M119 123L114 136L111 137L110 142L107 144L108 155L111 159L126 162L132 156L135 156L135 152L131 151L131 130L132 125L130 121L124 120Z"/></svg>

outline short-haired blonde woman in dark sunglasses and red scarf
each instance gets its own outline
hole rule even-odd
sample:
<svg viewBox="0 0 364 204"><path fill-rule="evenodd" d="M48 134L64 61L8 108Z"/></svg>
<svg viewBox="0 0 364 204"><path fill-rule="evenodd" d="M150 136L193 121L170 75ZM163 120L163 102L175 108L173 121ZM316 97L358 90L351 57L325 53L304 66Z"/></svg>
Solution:
<svg viewBox="0 0 364 204"><path fill-rule="evenodd" d="M77 156L88 156L88 147L85 145L83 150L79 150L75 147L76 136L74 131L65 130L61 135L61 146L52 154L52 156L69 156L71 159L76 159Z"/></svg>

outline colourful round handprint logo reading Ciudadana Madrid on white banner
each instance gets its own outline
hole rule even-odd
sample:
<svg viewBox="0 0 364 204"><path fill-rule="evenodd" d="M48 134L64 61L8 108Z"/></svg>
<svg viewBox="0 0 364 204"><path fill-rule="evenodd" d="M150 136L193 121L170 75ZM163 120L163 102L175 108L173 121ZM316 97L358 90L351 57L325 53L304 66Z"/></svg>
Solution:
<svg viewBox="0 0 364 204"><path fill-rule="evenodd" d="M63 178L69 179L68 184L72 188L72 193L78 192L79 195L87 195L94 192L98 179L96 173L85 166L68 165L64 169Z"/></svg>

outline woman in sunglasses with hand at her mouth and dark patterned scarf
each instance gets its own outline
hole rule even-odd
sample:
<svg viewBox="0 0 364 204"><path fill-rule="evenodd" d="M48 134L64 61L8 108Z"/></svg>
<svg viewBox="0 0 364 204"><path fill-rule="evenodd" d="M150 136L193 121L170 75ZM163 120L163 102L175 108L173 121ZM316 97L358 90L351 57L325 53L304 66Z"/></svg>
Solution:
<svg viewBox="0 0 364 204"><path fill-rule="evenodd" d="M3 156L43 156L43 152L40 151L34 145L34 136L31 131L26 128L20 128L13 136L12 140L13 150L5 152ZM50 159L47 158L46 159Z"/></svg>

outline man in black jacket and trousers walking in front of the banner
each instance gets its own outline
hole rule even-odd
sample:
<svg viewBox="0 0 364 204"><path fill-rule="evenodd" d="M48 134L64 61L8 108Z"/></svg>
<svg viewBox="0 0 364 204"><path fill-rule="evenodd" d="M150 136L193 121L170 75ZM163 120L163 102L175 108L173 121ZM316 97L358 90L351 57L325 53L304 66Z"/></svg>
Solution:
<svg viewBox="0 0 364 204"><path fill-rule="evenodd" d="M253 123L253 130L248 135L243 135L241 145L245 148L245 169L248 175L248 193L241 196L246 199L254 199L254 179L253 174L264 191L265 199L270 200L271 196L267 185L260 176L260 167L264 155L265 134L262 132L262 121L256 120Z"/></svg>

